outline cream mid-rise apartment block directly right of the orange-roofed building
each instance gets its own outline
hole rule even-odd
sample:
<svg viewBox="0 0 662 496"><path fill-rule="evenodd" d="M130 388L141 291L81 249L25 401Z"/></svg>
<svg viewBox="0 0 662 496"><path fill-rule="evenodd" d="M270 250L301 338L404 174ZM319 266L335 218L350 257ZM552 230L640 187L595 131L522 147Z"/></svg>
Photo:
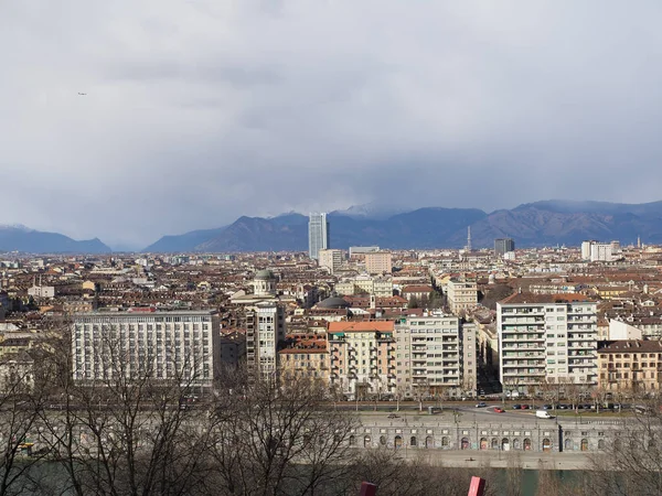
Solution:
<svg viewBox="0 0 662 496"><path fill-rule="evenodd" d="M409 316L395 325L396 391L406 397L473 396L477 327L441 313Z"/></svg>

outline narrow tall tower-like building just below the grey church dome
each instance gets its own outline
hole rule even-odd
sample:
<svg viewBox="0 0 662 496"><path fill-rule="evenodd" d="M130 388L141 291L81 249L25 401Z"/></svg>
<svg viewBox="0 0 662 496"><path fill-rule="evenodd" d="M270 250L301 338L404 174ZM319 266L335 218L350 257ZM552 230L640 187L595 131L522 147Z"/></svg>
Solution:
<svg viewBox="0 0 662 496"><path fill-rule="evenodd" d="M278 351L284 342L282 306L263 302L246 312L246 368L252 380L276 377Z"/></svg>

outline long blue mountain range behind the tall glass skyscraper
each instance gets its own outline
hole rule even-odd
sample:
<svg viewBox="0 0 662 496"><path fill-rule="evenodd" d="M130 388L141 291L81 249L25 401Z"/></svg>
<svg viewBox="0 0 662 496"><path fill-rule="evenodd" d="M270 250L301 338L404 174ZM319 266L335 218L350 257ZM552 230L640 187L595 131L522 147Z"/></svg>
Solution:
<svg viewBox="0 0 662 496"><path fill-rule="evenodd" d="M662 202L542 201L488 214L476 208L418 208L384 214L372 207L351 207L328 215L334 248L377 245L382 248L461 248L471 227L474 248L492 247L495 238L511 237L517 247L569 245L585 239L622 244L638 236L662 244ZM308 248L308 217L288 213L277 217L239 217L233 224L180 236L164 236L145 249L173 251L288 251Z"/></svg>

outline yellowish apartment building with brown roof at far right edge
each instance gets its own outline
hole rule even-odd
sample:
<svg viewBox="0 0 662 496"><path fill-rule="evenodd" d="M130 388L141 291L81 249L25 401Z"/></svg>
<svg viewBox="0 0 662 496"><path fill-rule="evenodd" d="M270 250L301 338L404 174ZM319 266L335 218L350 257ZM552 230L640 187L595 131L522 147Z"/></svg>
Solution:
<svg viewBox="0 0 662 496"><path fill-rule="evenodd" d="M602 342L598 347L598 370L602 390L658 391L662 384L662 342Z"/></svg>

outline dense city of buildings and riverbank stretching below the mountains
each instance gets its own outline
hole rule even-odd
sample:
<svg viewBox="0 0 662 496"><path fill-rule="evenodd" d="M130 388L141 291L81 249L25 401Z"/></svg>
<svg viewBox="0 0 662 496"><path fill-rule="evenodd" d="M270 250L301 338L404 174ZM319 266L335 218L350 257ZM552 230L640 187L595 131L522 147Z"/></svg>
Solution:
<svg viewBox="0 0 662 496"><path fill-rule="evenodd" d="M340 422L333 454L346 460L468 451L435 456L467 467L492 453L484 460L506 467L517 454L516 466L536 470L548 456L588 470L590 453L622 463L634 445L654 452L662 248L517 249L500 238L474 249L468 229L460 250L345 250L330 231L325 214L311 214L308 254L4 254L2 409L31 413L6 438L17 463L61 460L64 448L74 456L56 435L66 427L75 460L106 456L119 411L188 425L218 401L276 406L287 391L331 412L327 431ZM89 416L107 417L108 431ZM154 442L141 425L124 424L135 436L124 450Z"/></svg>

